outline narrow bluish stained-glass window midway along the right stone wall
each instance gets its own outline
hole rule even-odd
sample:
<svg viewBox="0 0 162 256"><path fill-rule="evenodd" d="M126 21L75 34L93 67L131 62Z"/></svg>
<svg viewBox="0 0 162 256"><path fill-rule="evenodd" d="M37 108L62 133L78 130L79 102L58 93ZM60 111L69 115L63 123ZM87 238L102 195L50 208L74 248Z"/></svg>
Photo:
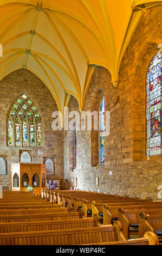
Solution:
<svg viewBox="0 0 162 256"><path fill-rule="evenodd" d="M100 103L100 163L105 162L105 100Z"/></svg>

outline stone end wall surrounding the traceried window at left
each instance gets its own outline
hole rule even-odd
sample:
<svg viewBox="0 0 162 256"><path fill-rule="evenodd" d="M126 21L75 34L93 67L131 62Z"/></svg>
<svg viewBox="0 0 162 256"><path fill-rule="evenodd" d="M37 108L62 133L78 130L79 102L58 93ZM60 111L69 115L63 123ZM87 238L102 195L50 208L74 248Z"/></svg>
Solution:
<svg viewBox="0 0 162 256"><path fill-rule="evenodd" d="M43 163L43 157L55 157L54 179L63 178L63 132L53 131L51 114L56 102L44 83L27 69L12 72L0 82L0 155L7 160L8 175L0 175L0 185L10 187L10 163L20 162L20 150L31 150L33 163ZM8 147L6 122L11 103L22 92L34 99L43 121L43 148Z"/></svg>

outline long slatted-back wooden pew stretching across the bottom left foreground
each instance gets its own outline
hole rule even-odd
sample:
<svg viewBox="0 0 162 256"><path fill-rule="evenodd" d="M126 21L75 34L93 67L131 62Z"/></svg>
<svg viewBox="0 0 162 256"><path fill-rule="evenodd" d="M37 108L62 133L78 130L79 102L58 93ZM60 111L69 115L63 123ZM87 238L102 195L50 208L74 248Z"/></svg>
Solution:
<svg viewBox="0 0 162 256"><path fill-rule="evenodd" d="M0 234L0 245L83 245L114 241L126 241L115 225Z"/></svg>

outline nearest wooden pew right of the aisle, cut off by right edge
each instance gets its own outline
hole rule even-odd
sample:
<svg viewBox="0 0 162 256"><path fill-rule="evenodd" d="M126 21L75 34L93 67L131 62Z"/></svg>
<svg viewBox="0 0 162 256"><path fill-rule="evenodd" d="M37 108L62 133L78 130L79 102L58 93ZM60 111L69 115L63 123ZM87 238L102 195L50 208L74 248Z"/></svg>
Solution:
<svg viewBox="0 0 162 256"><path fill-rule="evenodd" d="M154 232L162 242L162 213L161 215L149 215L145 212L139 214L139 237L146 231Z"/></svg>

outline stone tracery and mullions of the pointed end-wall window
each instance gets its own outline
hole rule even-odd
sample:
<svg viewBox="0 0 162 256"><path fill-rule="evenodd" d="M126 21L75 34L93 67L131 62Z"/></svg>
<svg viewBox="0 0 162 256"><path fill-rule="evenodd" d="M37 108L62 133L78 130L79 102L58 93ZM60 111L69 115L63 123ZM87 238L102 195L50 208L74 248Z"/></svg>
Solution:
<svg viewBox="0 0 162 256"><path fill-rule="evenodd" d="M27 99L23 99L22 97L21 97L21 95L23 95L23 94L25 94L25 95L27 95L28 96L28 98ZM21 93L19 93L16 97L15 97L15 100L14 101L12 101L12 103L11 103L11 105L10 105L10 108L9 108L9 111L8 111L8 114L7 114L7 120L6 120L6 127L7 127L7 129L6 129L6 132L7 132L7 137L6 137L6 143L7 143L7 147L9 147L9 148L19 148L19 149L21 149L21 148L25 148L25 149L32 149L32 148L43 148L44 147L44 124L43 124L43 118L42 118L42 114L41 114L41 111L40 111L40 108L38 108L37 106L37 103L36 103L36 101L33 99L33 97L30 95L30 94L28 93L28 92L26 92L26 90L23 90L23 92L21 92ZM22 100L22 103L19 105L18 103L17 103L17 100L18 99L21 99ZM26 100L28 100L28 99L30 99L31 101L32 101L32 104L31 104L31 106L27 106L28 108L26 109L26 110L30 110L30 112L31 112L31 117L30 117L30 119L28 119L27 118L27 115L25 115L25 112L26 112L26 110L24 111L24 109L22 108L22 106L23 106L23 104L25 103L25 101ZM17 109L17 111L16 111L16 114L15 114L15 117L14 117L14 119L11 117L11 115L10 115L10 111L11 111L11 109L13 110L13 111L15 111L15 109L13 108L13 106L14 106L14 103L16 103L16 105L18 105L18 109L21 109L22 110L22 112L23 112L23 115L22 115L22 118L20 118L19 116L18 116L18 109ZM33 111L31 111L31 107L32 106L35 106L36 107L36 111L35 112L33 112ZM38 117L38 119L37 120L35 120L35 113L36 112L38 112L38 114L39 114L39 117ZM19 121L19 123L20 123L20 143L21 143L21 145L20 146L16 146L16 144L15 144L15 123L16 123L16 117L18 118L18 121ZM27 146L23 146L23 131L22 131L22 125L23 125L23 119L24 119L24 117L25 117L25 119L27 120L27 124L28 124L28 145ZM9 145L8 144L8 120L9 120L9 118L11 119L11 121L12 121L12 130L13 130L13 145ZM34 119L34 127L35 127L35 147L31 147L30 146L30 123L31 123L31 120L32 120L32 118ZM42 127L42 147L37 147L37 125L38 125L38 123L39 123L39 121L41 120L41 127ZM25 151L27 151L27 150L25 150Z"/></svg>

